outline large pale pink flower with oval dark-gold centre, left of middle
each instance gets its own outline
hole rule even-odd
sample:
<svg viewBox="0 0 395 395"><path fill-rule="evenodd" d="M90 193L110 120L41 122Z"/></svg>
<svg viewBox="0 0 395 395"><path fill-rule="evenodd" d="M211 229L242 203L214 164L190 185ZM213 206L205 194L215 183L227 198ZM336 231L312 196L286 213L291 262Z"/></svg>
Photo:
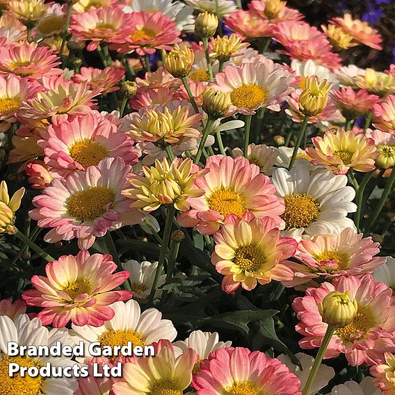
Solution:
<svg viewBox="0 0 395 395"><path fill-rule="evenodd" d="M47 243L79 239L79 248L88 249L96 237L122 225L140 222L142 213L130 211L122 196L131 166L122 158L106 158L85 172L77 170L65 179L54 179L43 195L33 198L29 212L40 227L52 227Z"/></svg>

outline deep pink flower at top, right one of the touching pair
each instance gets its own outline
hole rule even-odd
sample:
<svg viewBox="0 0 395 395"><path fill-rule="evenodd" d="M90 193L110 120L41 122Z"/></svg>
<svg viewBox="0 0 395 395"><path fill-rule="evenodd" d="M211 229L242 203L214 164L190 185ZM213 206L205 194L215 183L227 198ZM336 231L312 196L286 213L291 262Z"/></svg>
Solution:
<svg viewBox="0 0 395 395"><path fill-rule="evenodd" d="M154 54L156 49L172 49L172 45L181 42L181 31L176 23L162 13L141 11L131 13L129 24L132 26L131 33L122 42L115 45L120 53L124 54L136 50L136 54Z"/></svg>

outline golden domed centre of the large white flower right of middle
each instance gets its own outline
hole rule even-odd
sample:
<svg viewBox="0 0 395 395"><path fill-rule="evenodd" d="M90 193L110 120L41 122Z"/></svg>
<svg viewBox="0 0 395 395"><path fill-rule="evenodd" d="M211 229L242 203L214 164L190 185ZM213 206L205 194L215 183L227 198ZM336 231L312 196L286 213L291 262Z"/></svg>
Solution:
<svg viewBox="0 0 395 395"><path fill-rule="evenodd" d="M308 227L319 218L321 207L308 193L291 193L284 196L285 211L282 219L286 229Z"/></svg>

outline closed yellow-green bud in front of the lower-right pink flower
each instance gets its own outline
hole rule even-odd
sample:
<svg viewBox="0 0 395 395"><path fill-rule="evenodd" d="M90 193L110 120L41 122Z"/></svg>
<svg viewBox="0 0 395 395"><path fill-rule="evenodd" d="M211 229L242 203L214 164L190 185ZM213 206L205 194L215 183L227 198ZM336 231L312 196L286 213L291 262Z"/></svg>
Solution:
<svg viewBox="0 0 395 395"><path fill-rule="evenodd" d="M319 303L322 320L335 328L344 328L351 323L358 311L357 300L350 300L350 293L333 291Z"/></svg>

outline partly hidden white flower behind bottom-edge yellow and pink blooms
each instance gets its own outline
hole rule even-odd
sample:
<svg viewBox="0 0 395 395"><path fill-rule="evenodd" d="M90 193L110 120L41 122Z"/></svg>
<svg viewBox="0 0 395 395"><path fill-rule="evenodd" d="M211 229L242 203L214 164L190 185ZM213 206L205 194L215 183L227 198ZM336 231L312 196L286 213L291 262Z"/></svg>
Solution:
<svg viewBox="0 0 395 395"><path fill-rule="evenodd" d="M202 332L194 330L184 341L175 341L173 343L175 355L182 355L188 348L193 348L199 355L199 360L207 360L212 351L218 348L225 348L232 345L232 341L219 341L217 332Z"/></svg>

